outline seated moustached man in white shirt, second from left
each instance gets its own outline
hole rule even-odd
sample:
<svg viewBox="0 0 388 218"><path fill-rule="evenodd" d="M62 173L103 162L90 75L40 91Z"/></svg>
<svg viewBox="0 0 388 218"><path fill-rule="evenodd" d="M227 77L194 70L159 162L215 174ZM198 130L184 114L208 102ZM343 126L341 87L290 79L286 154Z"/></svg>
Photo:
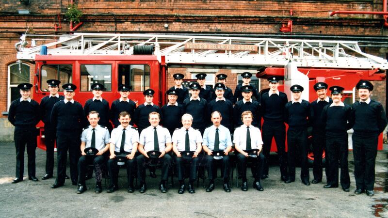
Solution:
<svg viewBox="0 0 388 218"><path fill-rule="evenodd" d="M135 127L129 125L130 115L127 111L122 111L119 114L119 122L120 125L112 130L110 140L111 156L109 156L108 160L108 171L111 180L109 180L109 189L107 192L112 193L118 189L117 179L119 168L117 166L117 161L119 158L117 156L125 156L128 176L128 192L132 193L134 191L133 173L136 166L135 154L139 142L139 133Z"/></svg>

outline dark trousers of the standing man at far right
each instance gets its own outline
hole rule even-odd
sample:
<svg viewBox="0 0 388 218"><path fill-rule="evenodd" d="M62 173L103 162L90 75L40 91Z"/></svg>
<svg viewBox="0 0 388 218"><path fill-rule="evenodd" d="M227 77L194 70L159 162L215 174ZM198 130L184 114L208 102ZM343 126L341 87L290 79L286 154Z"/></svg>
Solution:
<svg viewBox="0 0 388 218"><path fill-rule="evenodd" d="M353 134L352 140L356 187L373 190L378 137L364 138Z"/></svg>

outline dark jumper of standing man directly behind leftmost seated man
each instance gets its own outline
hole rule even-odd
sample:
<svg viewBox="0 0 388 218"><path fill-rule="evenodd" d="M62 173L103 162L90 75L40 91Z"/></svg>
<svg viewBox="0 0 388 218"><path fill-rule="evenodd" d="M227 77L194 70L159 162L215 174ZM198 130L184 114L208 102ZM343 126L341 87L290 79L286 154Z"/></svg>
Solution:
<svg viewBox="0 0 388 218"><path fill-rule="evenodd" d="M109 102L103 98L99 100L91 98L85 102L85 107L83 111L85 112L85 117L89 115L90 111L97 111L100 117L98 121L99 125L109 126Z"/></svg>

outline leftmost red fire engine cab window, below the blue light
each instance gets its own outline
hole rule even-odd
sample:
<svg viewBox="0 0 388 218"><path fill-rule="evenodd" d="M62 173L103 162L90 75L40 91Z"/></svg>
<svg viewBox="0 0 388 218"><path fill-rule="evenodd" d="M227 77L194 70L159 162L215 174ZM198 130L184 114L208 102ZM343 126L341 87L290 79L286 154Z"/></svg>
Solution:
<svg viewBox="0 0 388 218"><path fill-rule="evenodd" d="M63 91L62 85L71 82L72 73L73 65L71 64L45 64L41 68L42 79L40 80L40 89L43 92L49 92L49 86L46 81L49 79L58 79L61 81L59 91Z"/></svg>

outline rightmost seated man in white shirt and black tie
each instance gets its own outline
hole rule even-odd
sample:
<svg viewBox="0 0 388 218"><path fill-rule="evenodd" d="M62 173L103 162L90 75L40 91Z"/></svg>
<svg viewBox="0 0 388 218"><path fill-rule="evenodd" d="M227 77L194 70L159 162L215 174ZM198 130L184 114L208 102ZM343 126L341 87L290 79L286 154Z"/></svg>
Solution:
<svg viewBox="0 0 388 218"><path fill-rule="evenodd" d="M242 112L241 120L243 125L237 127L233 134L233 143L236 151L240 154L237 155L239 161L239 173L242 176L241 189L243 191L248 190L247 179L246 179L246 161L249 158L252 165L252 173L255 181L253 187L259 191L263 191L263 187L260 184L260 177L263 174L264 167L264 155L261 154L263 141L261 139L260 129L252 125L253 114L247 110ZM248 154L249 150L258 149L259 153L251 155Z"/></svg>

